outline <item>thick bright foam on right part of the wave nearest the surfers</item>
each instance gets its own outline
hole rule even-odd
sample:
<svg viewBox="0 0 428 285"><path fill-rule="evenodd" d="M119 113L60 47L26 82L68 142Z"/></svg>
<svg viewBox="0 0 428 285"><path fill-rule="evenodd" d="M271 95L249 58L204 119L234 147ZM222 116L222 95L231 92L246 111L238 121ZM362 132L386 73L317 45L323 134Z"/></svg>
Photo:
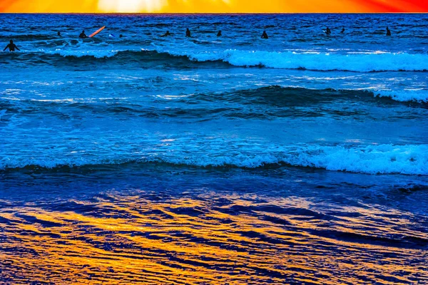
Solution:
<svg viewBox="0 0 428 285"><path fill-rule="evenodd" d="M296 53L291 51L226 51L178 52L174 56L188 56L193 61L225 61L233 66L265 66L268 68L314 71L427 71L428 56L409 53Z"/></svg>

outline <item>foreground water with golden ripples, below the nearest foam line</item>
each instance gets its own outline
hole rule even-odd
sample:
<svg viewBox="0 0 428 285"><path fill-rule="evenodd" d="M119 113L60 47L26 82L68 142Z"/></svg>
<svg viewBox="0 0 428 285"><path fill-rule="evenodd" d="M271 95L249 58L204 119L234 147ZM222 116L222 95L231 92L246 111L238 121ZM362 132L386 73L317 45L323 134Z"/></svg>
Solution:
<svg viewBox="0 0 428 285"><path fill-rule="evenodd" d="M427 189L399 177L126 165L3 178L21 175L0 197L6 283L428 281Z"/></svg>

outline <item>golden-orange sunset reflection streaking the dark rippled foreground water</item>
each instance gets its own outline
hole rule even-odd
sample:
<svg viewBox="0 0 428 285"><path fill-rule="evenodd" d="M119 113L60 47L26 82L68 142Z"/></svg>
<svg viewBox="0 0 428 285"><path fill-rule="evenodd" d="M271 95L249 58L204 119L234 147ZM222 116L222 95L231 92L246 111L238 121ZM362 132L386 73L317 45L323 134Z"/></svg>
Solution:
<svg viewBox="0 0 428 285"><path fill-rule="evenodd" d="M5 284L428 282L427 231L395 209L143 192L9 205L0 209Z"/></svg>

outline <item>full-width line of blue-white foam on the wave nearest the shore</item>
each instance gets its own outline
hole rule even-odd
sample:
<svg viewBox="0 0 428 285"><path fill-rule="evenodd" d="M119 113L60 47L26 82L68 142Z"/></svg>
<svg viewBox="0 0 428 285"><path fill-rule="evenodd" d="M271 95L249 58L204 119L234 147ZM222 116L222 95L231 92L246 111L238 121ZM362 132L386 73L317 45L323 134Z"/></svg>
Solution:
<svg viewBox="0 0 428 285"><path fill-rule="evenodd" d="M203 150L201 150L203 151ZM112 165L125 162L167 162L175 165L191 165L200 167L263 167L264 165L285 163L297 167L314 167L325 170L345 171L375 174L404 174L428 175L428 145L370 145L366 147L355 146L319 146L306 145L301 147L275 147L275 150L260 150L258 152L243 153L235 148L233 153L194 152L192 155L174 152L152 153L140 157L108 158L60 155L51 157L25 158L19 156L2 157L0 169L22 168L28 165L40 167L58 167L68 165L71 167L83 165Z"/></svg>

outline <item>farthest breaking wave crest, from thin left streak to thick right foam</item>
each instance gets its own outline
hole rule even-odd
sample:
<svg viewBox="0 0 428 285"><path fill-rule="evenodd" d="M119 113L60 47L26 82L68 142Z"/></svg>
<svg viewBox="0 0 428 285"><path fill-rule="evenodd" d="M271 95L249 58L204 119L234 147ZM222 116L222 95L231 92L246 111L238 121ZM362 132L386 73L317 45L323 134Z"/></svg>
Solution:
<svg viewBox="0 0 428 285"><path fill-rule="evenodd" d="M185 58L195 63L222 62L231 66L282 69L304 69L311 71L428 71L428 55L410 53L295 53L292 51L162 51L162 50L88 50L76 51L56 49L55 51L30 51L44 55L60 55L74 58L146 58L153 56L170 62Z"/></svg>

